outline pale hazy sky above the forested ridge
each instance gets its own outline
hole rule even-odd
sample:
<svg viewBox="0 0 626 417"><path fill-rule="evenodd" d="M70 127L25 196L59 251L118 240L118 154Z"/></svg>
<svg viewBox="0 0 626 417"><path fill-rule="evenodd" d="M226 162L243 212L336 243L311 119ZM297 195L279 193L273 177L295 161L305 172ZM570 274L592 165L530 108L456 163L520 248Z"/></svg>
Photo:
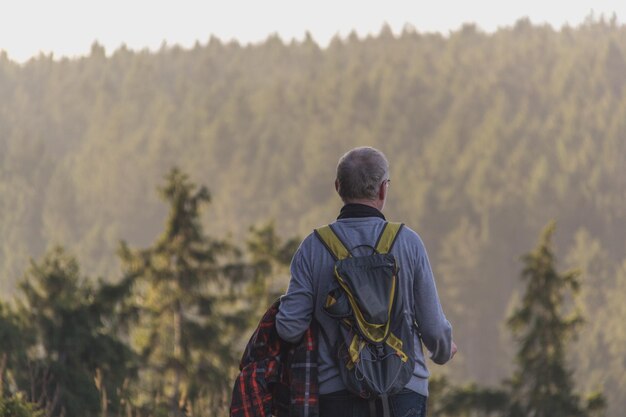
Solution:
<svg viewBox="0 0 626 417"><path fill-rule="evenodd" d="M626 19L626 0L6 0L0 1L0 50L23 62L40 51L55 57L89 52L98 41L107 53L126 44L157 49L192 46L213 34L222 40L259 42L278 33L301 39L305 31L322 46L336 34L378 33L387 22L395 33L409 23L420 32L448 33L464 22L486 31L513 24L575 26L591 12Z"/></svg>

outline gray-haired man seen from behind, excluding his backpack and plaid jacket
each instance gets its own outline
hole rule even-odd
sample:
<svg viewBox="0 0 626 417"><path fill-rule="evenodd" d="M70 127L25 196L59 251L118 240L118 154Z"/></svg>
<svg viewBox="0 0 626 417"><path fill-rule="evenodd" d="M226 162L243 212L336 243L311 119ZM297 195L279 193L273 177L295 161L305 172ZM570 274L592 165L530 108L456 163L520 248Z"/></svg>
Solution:
<svg viewBox="0 0 626 417"><path fill-rule="evenodd" d="M371 147L355 148L337 165L335 189L344 206L333 229L349 249L359 256L375 246L385 224L382 210L389 191L389 164L385 155ZM391 253L399 268L400 294L419 325L415 331L415 369L405 389L390 397L394 417L425 416L428 376L422 343L437 364L444 364L456 353L452 328L446 319L435 287L428 256L420 237L404 227ZM318 382L320 417L369 416L369 404L349 393L344 386L333 355L338 340L335 319L323 310L333 277L335 261L312 233L300 244L291 263L291 280L281 298L276 316L278 335L297 342L314 318L319 323Z"/></svg>

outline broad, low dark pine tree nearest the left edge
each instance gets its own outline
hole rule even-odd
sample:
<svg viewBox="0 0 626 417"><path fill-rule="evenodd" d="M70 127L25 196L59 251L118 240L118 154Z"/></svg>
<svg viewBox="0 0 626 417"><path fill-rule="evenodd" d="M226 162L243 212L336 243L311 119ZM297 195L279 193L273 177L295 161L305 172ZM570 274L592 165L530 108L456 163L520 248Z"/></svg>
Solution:
<svg viewBox="0 0 626 417"><path fill-rule="evenodd" d="M18 388L46 417L118 411L133 356L108 323L124 291L94 286L61 247L33 261L20 287L20 315L34 340L25 369L14 369Z"/></svg>

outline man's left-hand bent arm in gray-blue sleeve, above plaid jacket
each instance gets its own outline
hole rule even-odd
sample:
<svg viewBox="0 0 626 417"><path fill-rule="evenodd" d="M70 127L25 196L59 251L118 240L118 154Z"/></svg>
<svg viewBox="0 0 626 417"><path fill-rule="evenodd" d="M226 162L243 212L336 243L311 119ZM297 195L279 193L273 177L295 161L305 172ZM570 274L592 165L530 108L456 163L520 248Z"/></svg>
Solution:
<svg viewBox="0 0 626 417"><path fill-rule="evenodd" d="M307 240L302 242L291 260L289 287L280 299L280 307L276 315L278 335L290 343L296 343L302 338L311 324L315 307L311 267L305 255Z"/></svg>

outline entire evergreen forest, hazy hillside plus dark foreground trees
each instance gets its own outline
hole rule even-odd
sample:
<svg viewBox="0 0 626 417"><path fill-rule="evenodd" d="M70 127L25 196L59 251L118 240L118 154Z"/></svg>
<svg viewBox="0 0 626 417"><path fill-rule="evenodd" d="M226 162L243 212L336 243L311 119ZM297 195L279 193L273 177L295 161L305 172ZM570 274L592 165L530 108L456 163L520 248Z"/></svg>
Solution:
<svg viewBox="0 0 626 417"><path fill-rule="evenodd" d="M623 415L626 26L590 16L0 52L0 416L226 416L361 145L459 346L433 415Z"/></svg>

